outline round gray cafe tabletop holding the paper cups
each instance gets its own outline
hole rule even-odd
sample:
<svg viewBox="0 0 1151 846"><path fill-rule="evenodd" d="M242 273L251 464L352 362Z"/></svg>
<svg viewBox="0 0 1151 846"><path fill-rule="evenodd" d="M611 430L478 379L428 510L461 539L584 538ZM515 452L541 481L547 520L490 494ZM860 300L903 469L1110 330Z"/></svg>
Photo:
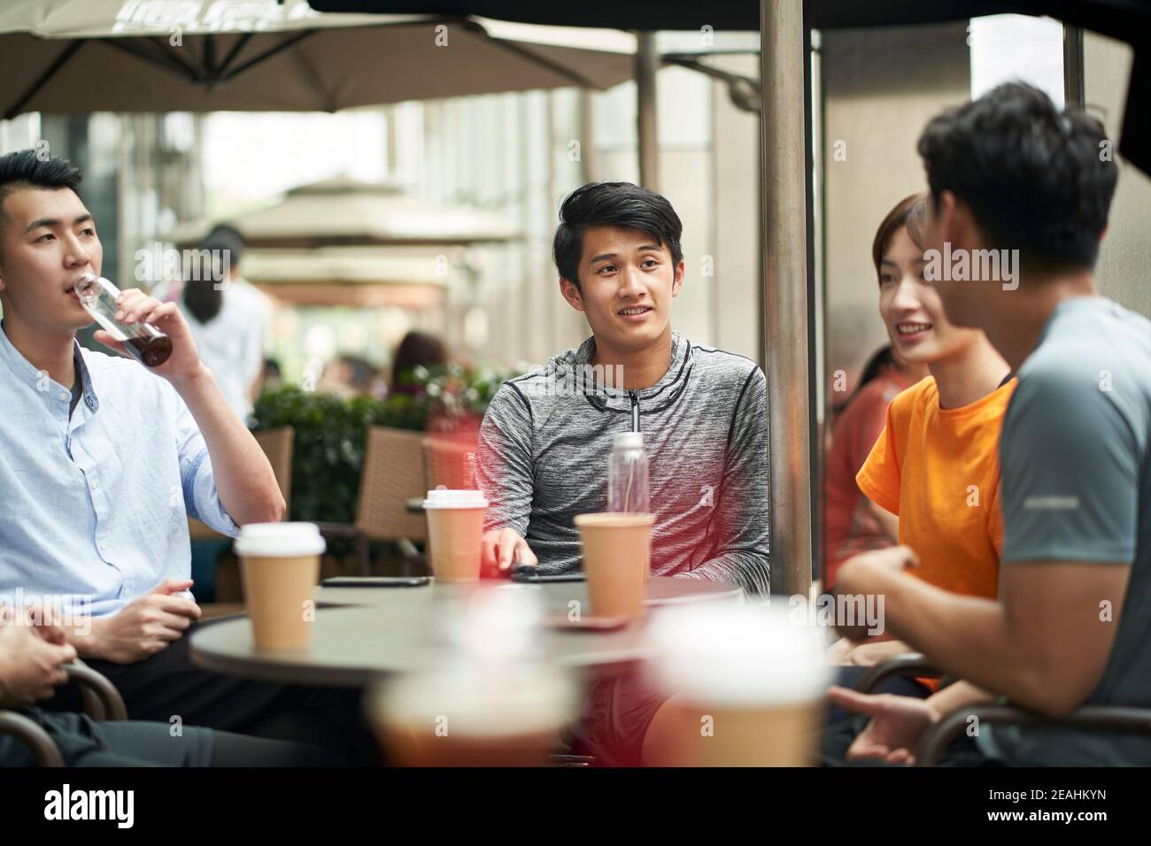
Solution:
<svg viewBox="0 0 1151 846"><path fill-rule="evenodd" d="M587 585L562 581L503 584L496 590L535 594L549 622L540 651L569 668L609 668L647 655L643 623L612 631L562 624L572 608L587 608ZM343 587L315 589L315 622L307 649L260 651L247 616L208 622L191 635L189 653L206 670L259 681L327 687L361 687L381 676L433 666L452 648L452 610L466 595L457 585ZM732 600L742 588L715 581L653 577L648 607ZM573 607L571 603L580 603ZM458 648L458 647L457 647Z"/></svg>

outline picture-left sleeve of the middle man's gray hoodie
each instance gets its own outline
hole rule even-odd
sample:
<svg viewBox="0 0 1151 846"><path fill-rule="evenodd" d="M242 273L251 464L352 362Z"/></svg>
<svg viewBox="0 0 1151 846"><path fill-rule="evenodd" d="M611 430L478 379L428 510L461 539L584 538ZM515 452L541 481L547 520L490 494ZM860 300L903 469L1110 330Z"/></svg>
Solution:
<svg viewBox="0 0 1151 846"><path fill-rule="evenodd" d="M483 531L514 529L527 536L532 517L532 410L512 384L491 397L477 449L475 477L488 500Z"/></svg>

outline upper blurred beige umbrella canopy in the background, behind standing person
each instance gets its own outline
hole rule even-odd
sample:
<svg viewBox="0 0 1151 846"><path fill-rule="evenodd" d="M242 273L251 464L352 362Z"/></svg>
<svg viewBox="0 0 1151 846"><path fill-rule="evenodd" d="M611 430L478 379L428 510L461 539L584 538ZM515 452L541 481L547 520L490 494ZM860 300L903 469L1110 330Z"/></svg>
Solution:
<svg viewBox="0 0 1151 846"><path fill-rule="evenodd" d="M464 245L509 241L517 230L504 218L482 208L427 203L391 184L346 176L288 191L273 206L228 220L249 249L386 246L405 244ZM170 239L198 243L209 223L185 223Z"/></svg>

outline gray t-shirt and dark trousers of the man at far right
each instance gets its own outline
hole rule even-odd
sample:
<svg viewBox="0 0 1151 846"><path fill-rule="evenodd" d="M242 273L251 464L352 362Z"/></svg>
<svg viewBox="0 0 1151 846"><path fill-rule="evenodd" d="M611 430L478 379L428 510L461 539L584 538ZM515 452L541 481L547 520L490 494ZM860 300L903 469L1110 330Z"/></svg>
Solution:
<svg viewBox="0 0 1151 846"><path fill-rule="evenodd" d="M1151 706L1151 321L1103 297L1061 302L1019 371L999 449L1001 565L1129 570L1126 596L1080 609L1114 628L1085 704ZM1151 764L1149 734L991 727L981 739L1013 763Z"/></svg>

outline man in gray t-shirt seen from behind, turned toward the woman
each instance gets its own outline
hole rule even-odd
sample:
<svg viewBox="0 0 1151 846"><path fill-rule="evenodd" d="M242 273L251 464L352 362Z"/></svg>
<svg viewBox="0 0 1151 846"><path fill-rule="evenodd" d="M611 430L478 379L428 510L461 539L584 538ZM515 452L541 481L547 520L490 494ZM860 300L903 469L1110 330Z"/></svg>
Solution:
<svg viewBox="0 0 1151 846"><path fill-rule="evenodd" d="M905 547L851 559L837 589L884 595L887 631L965 680L932 698L951 696L952 712L998 698L1052 717L1151 707L1151 321L1099 297L1092 276L1116 181L1104 139L1098 121L1023 83L920 138L925 277L948 320L983 329L1019 374L999 445L999 590L956 596L909 578ZM904 761L943 716L887 710L904 716L876 716L864 734ZM1151 764L1145 733L968 726L976 760Z"/></svg>

